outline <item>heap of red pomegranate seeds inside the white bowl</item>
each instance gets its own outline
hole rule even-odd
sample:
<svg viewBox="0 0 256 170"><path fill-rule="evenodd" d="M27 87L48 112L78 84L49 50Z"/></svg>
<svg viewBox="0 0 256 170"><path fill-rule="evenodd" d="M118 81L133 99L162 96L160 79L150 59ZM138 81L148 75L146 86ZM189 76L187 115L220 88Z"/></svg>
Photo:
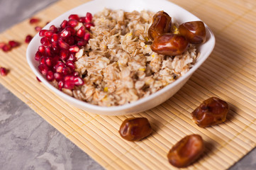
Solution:
<svg viewBox="0 0 256 170"><path fill-rule="evenodd" d="M87 45L89 30L94 26L91 13L85 17L72 14L68 19L62 21L59 28L52 25L49 30L40 30L41 45L35 53L39 72L48 81L57 81L60 90L72 90L84 84L83 79L74 71L75 54ZM77 28L81 23L82 26Z"/></svg>

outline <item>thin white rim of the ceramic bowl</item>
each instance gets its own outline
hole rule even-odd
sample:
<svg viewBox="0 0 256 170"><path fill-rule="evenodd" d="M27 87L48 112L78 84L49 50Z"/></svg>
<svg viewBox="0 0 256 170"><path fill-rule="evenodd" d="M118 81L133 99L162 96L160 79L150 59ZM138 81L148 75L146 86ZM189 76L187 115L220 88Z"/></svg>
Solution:
<svg viewBox="0 0 256 170"><path fill-rule="evenodd" d="M94 0L94 1L89 1L86 2L82 5L79 5L75 8L70 9L69 11L66 11L65 13L62 13L60 16L58 16L57 18L55 18L54 20L52 20L50 23L48 23L47 26L45 26L43 29L48 29L48 27L50 27L53 23L59 21L60 19L63 21L63 18L67 18L67 16L72 13L73 11L77 10L78 8L81 8L82 6L86 5L86 4L90 4L90 3L95 3L95 2L100 2L100 1L104 1L104 0ZM112 0L115 1L115 0ZM116 0L118 1L118 0ZM120 0L119 0L120 1ZM125 1L125 0L123 0ZM160 0L160 1L166 1L166 0ZM177 4L174 4L170 1L167 1L170 5L175 6L175 8L178 8L179 10L182 10L184 12L189 13L189 15L193 16L194 18L197 18L199 21L201 21L197 16L194 16L194 14L190 13L189 11L185 10L184 8L178 6ZM96 11L98 12L98 11ZM35 35L35 37L33 38L33 40L30 41L28 48L26 50L26 58L27 58L27 62L30 66L30 69L32 69L33 73L35 74L35 76L37 76L40 81L43 82L43 84L45 84L45 86L47 86L50 90L52 90L53 92L55 92L58 96L60 96L61 98L66 99L67 101L71 101L72 103L76 103L76 105L78 106L82 106L82 107L86 107L89 108L90 110L95 110L95 111L100 111L100 112L109 112L109 111L123 111L126 110L128 108L133 108L135 106L140 106L140 104L142 103L146 103L147 101L152 100L153 98L160 96L161 94L165 94L166 91L172 89L172 87L177 86L177 84L181 83L182 81L184 81L184 79L187 79L188 77L191 76L191 74L193 74L196 69L198 69L201 64L204 63L204 61L208 58L209 55L211 55L211 52L213 51L213 48L215 46L215 36L213 35L212 30L205 24L206 27L206 33L208 33L209 38L208 40L211 40L211 42L213 43L213 45L211 45L210 48L208 48L208 51L206 52L206 54L204 56L199 56L200 60L197 60L194 64L193 67L191 67L191 69L189 69L189 71L184 74L182 77L179 77L179 79L175 80L174 82L172 82L172 84L168 84L167 86L165 86L164 88L160 89L159 91L156 91L153 94L150 94L150 96L147 96L145 98L140 98L138 99L138 101L134 101L133 103L126 103L122 106L97 106L91 103L87 103L86 101L80 101L77 98L74 98L72 96L69 96L67 94L65 94L64 92L60 91L59 89L55 88L55 86L52 86L52 84L50 82L48 82L43 76L42 74L40 74L40 72L38 71L38 69L33 65L33 61L34 57L31 56L31 50L33 49L33 45L35 44L36 40L38 40L39 37L39 33L37 33Z"/></svg>

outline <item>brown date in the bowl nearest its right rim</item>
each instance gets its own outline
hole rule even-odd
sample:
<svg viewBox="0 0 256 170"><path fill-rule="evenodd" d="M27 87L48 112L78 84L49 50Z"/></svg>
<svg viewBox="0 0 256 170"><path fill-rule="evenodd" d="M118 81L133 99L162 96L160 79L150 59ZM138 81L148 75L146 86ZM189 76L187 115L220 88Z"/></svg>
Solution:
<svg viewBox="0 0 256 170"><path fill-rule="evenodd" d="M191 44L201 44L206 41L206 28L202 21L191 21L179 26L179 33Z"/></svg>

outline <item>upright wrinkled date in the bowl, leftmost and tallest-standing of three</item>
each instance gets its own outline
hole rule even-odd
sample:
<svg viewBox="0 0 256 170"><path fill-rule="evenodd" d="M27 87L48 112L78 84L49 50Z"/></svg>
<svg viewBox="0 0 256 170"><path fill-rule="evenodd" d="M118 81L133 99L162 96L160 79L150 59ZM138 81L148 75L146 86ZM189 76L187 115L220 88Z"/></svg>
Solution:
<svg viewBox="0 0 256 170"><path fill-rule="evenodd" d="M164 11L159 11L153 16L152 25L148 29L148 37L155 40L163 33L170 33L172 27L172 18Z"/></svg>

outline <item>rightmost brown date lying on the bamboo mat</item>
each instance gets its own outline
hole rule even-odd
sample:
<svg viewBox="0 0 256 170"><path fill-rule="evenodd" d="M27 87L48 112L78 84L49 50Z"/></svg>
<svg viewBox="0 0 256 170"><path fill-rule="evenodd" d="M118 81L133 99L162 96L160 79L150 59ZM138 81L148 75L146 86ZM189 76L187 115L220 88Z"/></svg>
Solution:
<svg viewBox="0 0 256 170"><path fill-rule="evenodd" d="M229 106L226 101L220 98L211 97L201 103L192 113L194 123L201 128L206 128L210 125L223 123L226 120L226 115L229 111Z"/></svg>

